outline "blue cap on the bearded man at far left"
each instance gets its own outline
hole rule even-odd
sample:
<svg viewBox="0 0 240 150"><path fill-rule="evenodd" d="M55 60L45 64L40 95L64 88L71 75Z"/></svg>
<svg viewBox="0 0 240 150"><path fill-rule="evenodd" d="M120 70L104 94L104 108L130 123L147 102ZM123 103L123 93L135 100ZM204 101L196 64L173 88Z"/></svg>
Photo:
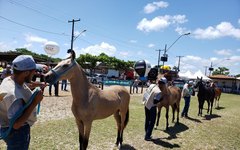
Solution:
<svg viewBox="0 0 240 150"><path fill-rule="evenodd" d="M36 69L36 63L30 55L20 55L16 57L12 62L13 69L19 71L34 70Z"/></svg>

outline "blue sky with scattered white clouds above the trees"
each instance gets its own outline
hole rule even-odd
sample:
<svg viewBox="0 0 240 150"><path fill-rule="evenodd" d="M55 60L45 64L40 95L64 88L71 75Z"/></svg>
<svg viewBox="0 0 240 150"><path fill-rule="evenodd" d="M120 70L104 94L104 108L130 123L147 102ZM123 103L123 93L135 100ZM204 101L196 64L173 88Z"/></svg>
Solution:
<svg viewBox="0 0 240 150"><path fill-rule="evenodd" d="M44 45L55 42L60 51L51 57L65 58L73 19L80 19L77 56L105 53L154 66L166 47L164 64L178 66L181 56L180 72L209 75L212 64L240 74L239 0L0 0L0 51L46 54Z"/></svg>

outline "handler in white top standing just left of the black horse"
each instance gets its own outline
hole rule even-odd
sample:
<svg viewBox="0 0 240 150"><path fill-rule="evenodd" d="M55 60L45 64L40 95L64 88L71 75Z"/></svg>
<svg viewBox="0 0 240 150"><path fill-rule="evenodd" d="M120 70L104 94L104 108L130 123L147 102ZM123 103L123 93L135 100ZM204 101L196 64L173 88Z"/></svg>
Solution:
<svg viewBox="0 0 240 150"><path fill-rule="evenodd" d="M189 81L183 86L182 97L184 98L185 105L181 114L182 117L188 117L191 95L194 93L192 85L193 81Z"/></svg>

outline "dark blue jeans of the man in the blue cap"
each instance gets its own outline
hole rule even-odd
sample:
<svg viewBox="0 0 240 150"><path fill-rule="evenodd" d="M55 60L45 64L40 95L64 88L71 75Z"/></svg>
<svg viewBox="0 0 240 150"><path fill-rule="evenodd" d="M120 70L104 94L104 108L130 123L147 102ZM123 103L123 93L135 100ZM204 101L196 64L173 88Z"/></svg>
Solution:
<svg viewBox="0 0 240 150"><path fill-rule="evenodd" d="M8 128L1 128L1 133ZM12 129L4 141L7 144L7 150L28 150L30 143L30 126L24 125L19 129Z"/></svg>

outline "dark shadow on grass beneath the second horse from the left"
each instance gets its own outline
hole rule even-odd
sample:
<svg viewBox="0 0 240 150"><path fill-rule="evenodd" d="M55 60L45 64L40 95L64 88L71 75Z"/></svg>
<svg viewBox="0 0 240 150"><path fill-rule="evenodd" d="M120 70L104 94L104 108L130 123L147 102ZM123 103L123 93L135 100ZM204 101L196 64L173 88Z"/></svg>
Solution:
<svg viewBox="0 0 240 150"><path fill-rule="evenodd" d="M189 128L182 123L175 123L173 127L169 127L168 130L164 130L165 133L167 133L169 136L166 138L168 140L177 138L177 134L181 133L183 131L188 130Z"/></svg>

